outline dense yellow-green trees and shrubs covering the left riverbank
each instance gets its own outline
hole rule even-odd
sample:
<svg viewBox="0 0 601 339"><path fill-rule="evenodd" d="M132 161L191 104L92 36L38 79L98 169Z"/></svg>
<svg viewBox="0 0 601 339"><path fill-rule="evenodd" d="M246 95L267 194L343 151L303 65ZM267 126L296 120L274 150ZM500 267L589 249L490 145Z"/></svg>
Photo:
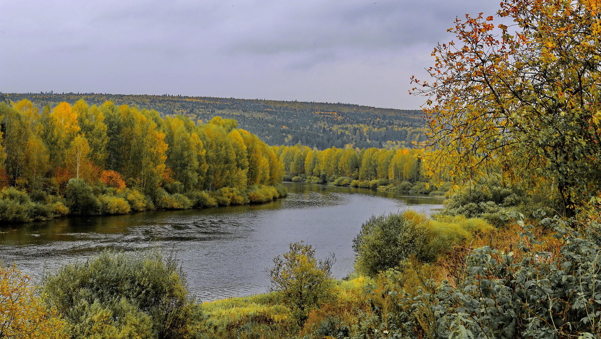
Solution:
<svg viewBox="0 0 601 339"><path fill-rule="evenodd" d="M40 112L0 104L0 220L126 214L285 196L273 149L235 120L208 123L112 102Z"/></svg>

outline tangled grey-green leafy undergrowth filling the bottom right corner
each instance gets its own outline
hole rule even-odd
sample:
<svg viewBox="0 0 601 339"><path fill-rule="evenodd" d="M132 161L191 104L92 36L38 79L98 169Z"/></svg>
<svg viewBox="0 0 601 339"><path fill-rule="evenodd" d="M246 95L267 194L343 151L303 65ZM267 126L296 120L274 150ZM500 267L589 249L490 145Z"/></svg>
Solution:
<svg viewBox="0 0 601 339"><path fill-rule="evenodd" d="M398 287L398 274L389 275L392 318L383 313L364 318L361 332L386 328L389 335L415 338L598 337L601 247L573 231L570 222L555 217L542 223L555 229L554 238L538 240L532 226L524 225L514 251L475 249L458 285L430 281L408 294Z"/></svg>

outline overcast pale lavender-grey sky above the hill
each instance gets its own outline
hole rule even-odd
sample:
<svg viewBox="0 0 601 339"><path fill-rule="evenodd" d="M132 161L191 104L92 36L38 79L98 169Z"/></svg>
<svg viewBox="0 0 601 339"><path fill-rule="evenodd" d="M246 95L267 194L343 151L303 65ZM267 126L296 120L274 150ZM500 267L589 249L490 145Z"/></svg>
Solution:
<svg viewBox="0 0 601 339"><path fill-rule="evenodd" d="M418 109L436 43L498 0L1 0L0 92Z"/></svg>

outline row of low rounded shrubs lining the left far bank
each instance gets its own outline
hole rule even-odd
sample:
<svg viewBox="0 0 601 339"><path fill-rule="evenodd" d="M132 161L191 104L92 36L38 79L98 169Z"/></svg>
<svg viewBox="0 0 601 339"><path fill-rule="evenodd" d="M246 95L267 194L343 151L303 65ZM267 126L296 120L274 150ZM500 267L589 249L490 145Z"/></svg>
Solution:
<svg viewBox="0 0 601 339"><path fill-rule="evenodd" d="M248 190L223 187L215 191L177 193L158 188L152 195L135 188L91 186L83 179L70 179L64 196L35 190L26 193L14 187L0 190L0 221L31 222L67 215L127 214L147 210L186 210L217 206L255 204L287 195L284 186L252 185Z"/></svg>

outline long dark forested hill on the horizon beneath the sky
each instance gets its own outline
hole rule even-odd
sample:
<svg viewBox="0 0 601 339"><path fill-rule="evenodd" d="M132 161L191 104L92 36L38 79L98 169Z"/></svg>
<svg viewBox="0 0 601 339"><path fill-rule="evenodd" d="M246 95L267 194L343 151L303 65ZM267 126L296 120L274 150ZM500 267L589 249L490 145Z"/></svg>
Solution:
<svg viewBox="0 0 601 339"><path fill-rule="evenodd" d="M257 134L269 145L302 145L325 149L352 144L359 148L408 146L424 140L419 110L395 110L352 104L210 98L171 95L112 95L94 93L4 93L12 102L29 99L54 107L62 101L88 104L112 101L159 111L163 116L183 114L207 122L213 116L236 119L239 128Z"/></svg>

